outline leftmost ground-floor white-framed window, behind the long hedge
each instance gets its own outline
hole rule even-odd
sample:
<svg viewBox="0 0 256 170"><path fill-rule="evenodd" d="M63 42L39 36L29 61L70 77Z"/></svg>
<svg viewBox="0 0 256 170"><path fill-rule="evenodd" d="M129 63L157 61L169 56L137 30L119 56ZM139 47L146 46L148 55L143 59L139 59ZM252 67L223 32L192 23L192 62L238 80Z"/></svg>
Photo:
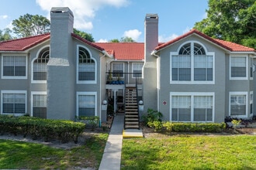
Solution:
<svg viewBox="0 0 256 170"><path fill-rule="evenodd" d="M2 90L1 99L1 114L26 114L25 90Z"/></svg>

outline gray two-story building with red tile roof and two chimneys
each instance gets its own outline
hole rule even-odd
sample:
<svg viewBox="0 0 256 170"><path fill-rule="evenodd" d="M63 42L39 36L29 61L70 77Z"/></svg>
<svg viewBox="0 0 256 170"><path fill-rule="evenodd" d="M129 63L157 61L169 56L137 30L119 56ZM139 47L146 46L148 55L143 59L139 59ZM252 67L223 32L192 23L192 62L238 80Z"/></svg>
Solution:
<svg viewBox="0 0 256 170"><path fill-rule="evenodd" d="M74 120L106 105L137 128L139 110L164 121L223 122L255 114L255 50L195 29L158 42L147 14L144 42L88 42L69 8L52 8L50 33L0 42L0 114Z"/></svg>

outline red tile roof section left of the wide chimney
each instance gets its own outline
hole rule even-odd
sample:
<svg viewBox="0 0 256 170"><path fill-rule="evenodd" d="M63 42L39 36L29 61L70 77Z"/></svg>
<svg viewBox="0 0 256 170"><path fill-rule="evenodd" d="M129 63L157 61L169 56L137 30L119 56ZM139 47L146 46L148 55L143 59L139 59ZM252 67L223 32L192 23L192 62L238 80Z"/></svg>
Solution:
<svg viewBox="0 0 256 170"><path fill-rule="evenodd" d="M12 39L0 42L0 51L25 51L41 42L50 39L50 33L29 36L22 39Z"/></svg>

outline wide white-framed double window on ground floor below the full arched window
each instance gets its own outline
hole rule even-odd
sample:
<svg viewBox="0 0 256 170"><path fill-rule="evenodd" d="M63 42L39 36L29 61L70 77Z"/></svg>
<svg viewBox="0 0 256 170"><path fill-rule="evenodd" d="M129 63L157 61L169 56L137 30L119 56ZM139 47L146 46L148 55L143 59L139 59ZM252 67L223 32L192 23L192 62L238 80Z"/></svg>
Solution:
<svg viewBox="0 0 256 170"><path fill-rule="evenodd" d="M213 122L214 93L170 93L171 121Z"/></svg>

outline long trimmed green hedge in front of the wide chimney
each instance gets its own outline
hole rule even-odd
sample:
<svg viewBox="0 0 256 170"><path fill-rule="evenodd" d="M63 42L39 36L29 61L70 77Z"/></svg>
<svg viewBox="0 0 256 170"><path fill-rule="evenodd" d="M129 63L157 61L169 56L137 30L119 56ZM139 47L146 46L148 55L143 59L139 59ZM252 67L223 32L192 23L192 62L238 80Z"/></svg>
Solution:
<svg viewBox="0 0 256 170"><path fill-rule="evenodd" d="M74 121L50 120L38 117L0 116L0 134L12 133L31 135L31 138L43 138L44 141L60 140L62 143L73 140L85 131L85 124Z"/></svg>

